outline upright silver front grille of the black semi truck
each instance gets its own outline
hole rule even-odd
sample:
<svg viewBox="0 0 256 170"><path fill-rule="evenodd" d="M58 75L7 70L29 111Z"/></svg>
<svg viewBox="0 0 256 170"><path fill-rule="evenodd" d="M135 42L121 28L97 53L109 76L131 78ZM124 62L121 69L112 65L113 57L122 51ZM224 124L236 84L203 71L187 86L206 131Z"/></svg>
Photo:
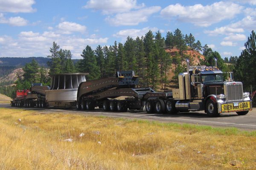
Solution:
<svg viewBox="0 0 256 170"><path fill-rule="evenodd" d="M243 99L243 84L241 82L226 82L224 94L228 101L239 101Z"/></svg>

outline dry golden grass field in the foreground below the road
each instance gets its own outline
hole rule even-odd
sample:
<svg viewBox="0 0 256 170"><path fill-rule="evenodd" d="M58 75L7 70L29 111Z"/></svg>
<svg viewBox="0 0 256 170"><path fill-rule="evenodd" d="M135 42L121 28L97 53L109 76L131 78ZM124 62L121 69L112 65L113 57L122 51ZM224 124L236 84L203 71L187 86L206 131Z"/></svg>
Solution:
<svg viewBox="0 0 256 170"><path fill-rule="evenodd" d="M253 170L256 132L0 108L1 170Z"/></svg>

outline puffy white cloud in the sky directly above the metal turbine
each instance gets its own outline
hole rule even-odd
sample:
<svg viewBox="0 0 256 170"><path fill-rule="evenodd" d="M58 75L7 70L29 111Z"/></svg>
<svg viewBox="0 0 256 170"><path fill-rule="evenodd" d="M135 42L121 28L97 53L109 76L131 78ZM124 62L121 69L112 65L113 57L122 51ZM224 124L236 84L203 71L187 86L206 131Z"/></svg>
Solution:
<svg viewBox="0 0 256 170"><path fill-rule="evenodd" d="M82 26L78 23L71 23L67 21L59 23L57 28L60 29L62 34L71 34L72 32L83 33L86 30L86 26Z"/></svg>

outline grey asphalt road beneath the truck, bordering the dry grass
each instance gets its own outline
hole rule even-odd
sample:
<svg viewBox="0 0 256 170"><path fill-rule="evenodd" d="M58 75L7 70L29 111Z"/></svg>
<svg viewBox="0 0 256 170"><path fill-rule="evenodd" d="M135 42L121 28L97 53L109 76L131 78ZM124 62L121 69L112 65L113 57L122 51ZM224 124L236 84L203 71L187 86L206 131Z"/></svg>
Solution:
<svg viewBox="0 0 256 170"><path fill-rule="evenodd" d="M0 104L0 108L13 108L9 104ZM145 111L104 112L102 109L94 111L77 111L75 108L23 108L24 110L36 110L43 113L74 113L83 115L109 116L128 119L145 119L159 122L190 123L197 125L209 125L212 127L237 127L243 130L256 130L256 109L249 111L247 115L239 116L236 113L225 113L219 117L208 117L203 111L168 114L148 114Z"/></svg>

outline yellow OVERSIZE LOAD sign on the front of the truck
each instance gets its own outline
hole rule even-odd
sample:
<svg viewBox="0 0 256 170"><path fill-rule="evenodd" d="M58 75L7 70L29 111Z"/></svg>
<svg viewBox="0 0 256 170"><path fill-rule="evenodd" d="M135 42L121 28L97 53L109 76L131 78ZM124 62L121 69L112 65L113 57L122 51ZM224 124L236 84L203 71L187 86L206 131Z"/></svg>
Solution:
<svg viewBox="0 0 256 170"><path fill-rule="evenodd" d="M250 102L228 103L221 105L221 111L239 111L250 109Z"/></svg>

